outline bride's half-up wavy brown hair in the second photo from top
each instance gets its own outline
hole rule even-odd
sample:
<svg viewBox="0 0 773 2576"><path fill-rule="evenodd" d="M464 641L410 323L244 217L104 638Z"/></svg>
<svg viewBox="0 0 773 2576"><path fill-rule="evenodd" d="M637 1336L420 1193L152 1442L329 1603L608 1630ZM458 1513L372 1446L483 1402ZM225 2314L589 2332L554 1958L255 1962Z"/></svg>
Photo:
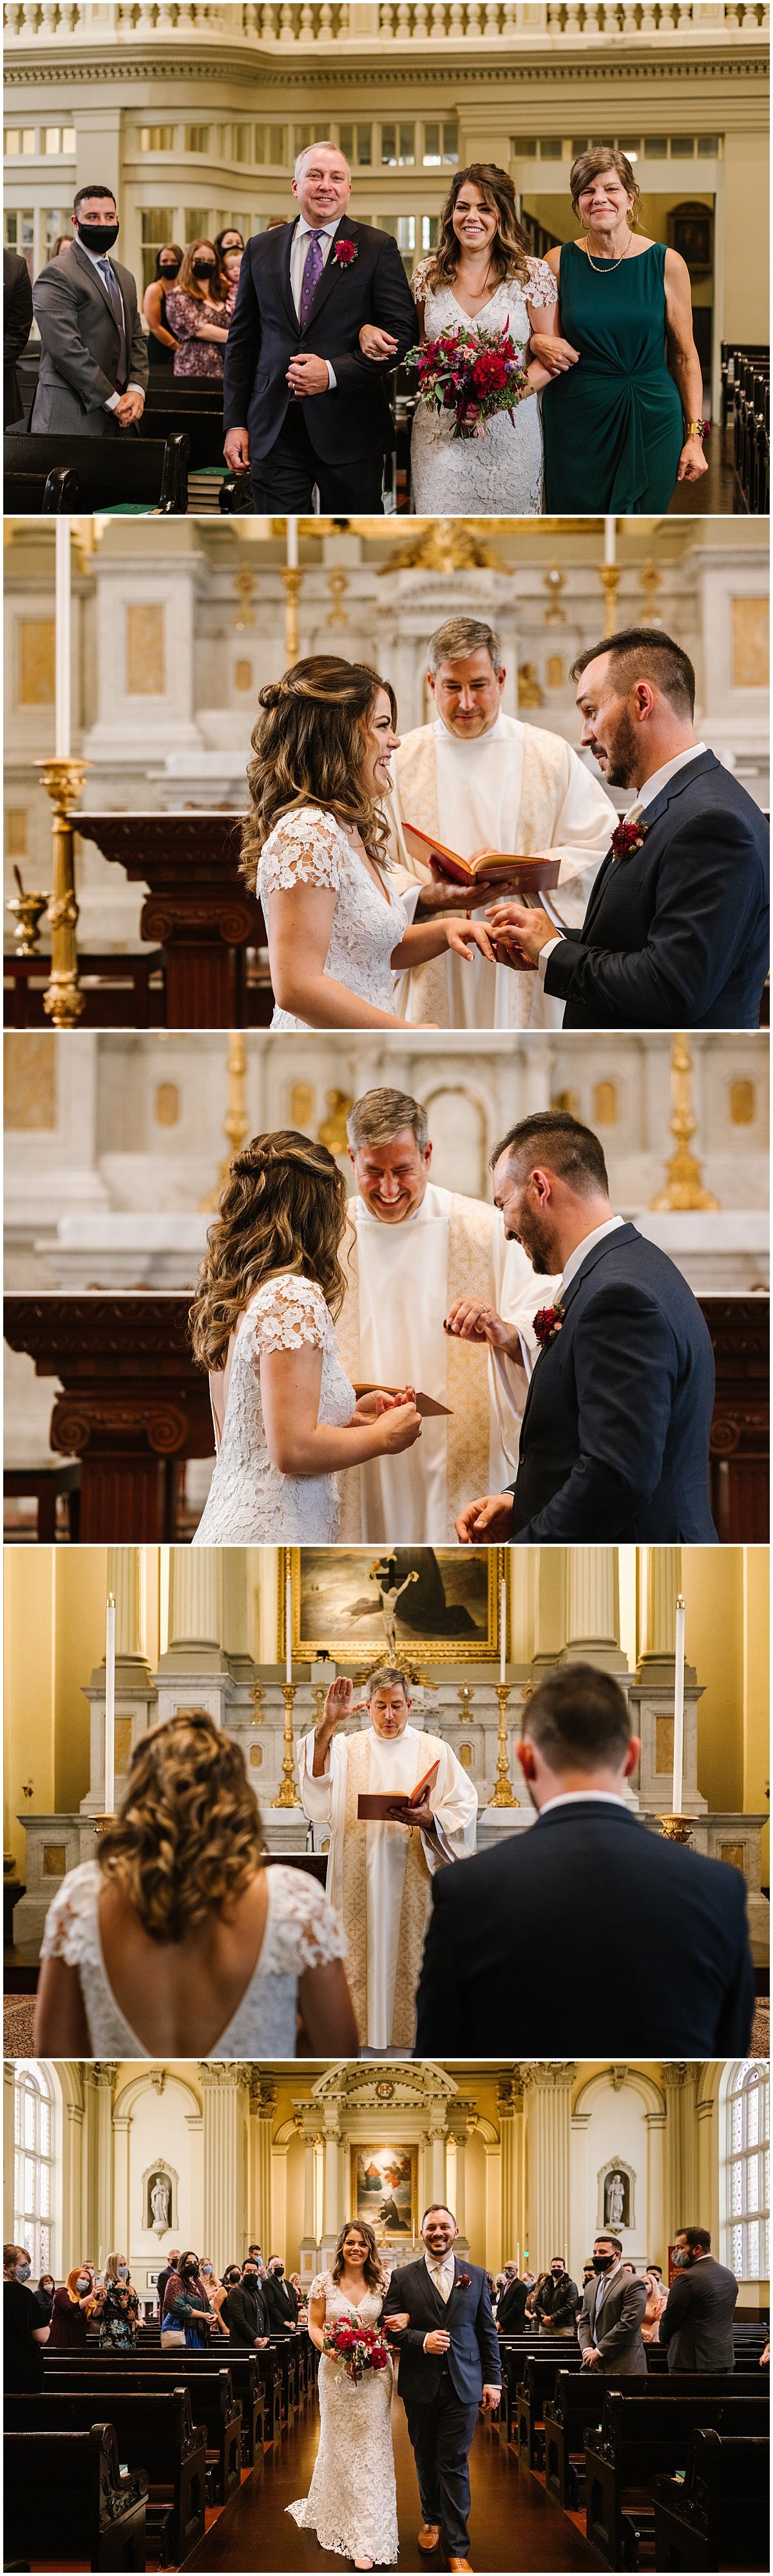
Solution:
<svg viewBox="0 0 773 2576"><path fill-rule="evenodd" d="M376 868L389 868L389 824L363 788L366 732L379 690L397 698L368 662L343 662L338 652L312 652L281 680L260 688L247 788L253 811L242 824L242 873L255 891L263 842L283 814L317 804L356 829Z"/></svg>

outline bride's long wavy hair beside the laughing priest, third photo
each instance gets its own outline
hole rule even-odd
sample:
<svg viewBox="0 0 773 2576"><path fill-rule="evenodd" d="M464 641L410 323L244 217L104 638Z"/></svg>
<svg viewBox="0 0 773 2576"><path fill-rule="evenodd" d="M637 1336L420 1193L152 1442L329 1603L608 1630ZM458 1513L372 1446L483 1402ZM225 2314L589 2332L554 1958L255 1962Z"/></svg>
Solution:
<svg viewBox="0 0 773 2576"><path fill-rule="evenodd" d="M253 1144L234 1154L188 1316L201 1368L224 1368L240 1314L278 1270L317 1280L330 1314L340 1314L345 1275L338 1244L345 1213L345 1177L338 1162L325 1144L314 1144L299 1128L253 1136Z"/></svg>

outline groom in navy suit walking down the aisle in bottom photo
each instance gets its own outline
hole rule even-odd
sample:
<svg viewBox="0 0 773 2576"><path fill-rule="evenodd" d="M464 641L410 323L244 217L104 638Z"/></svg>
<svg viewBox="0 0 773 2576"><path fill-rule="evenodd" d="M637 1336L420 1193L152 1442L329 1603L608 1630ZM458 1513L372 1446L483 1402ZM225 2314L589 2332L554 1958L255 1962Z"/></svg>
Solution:
<svg viewBox="0 0 773 2576"><path fill-rule="evenodd" d="M384 2318L399 2349L399 2396L423 2504L420 2550L441 2545L448 2568L469 2568L469 2445L477 2414L497 2409L502 2365L487 2275L453 2254L453 2210L423 2215L423 2262L392 2272Z"/></svg>

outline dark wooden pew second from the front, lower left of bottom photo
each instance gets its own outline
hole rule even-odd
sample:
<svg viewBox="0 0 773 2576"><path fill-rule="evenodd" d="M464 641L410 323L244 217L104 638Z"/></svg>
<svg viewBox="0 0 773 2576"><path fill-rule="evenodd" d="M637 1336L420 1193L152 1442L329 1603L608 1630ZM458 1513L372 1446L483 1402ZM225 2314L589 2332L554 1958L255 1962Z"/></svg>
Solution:
<svg viewBox="0 0 773 2576"><path fill-rule="evenodd" d="M64 2380L64 2372L62 2372ZM95 2416L116 2432L119 2458L147 2473L147 2543L152 2558L180 2566L204 2540L206 2429L191 2419L188 2388L52 2385L5 2396L8 2432L90 2432Z"/></svg>

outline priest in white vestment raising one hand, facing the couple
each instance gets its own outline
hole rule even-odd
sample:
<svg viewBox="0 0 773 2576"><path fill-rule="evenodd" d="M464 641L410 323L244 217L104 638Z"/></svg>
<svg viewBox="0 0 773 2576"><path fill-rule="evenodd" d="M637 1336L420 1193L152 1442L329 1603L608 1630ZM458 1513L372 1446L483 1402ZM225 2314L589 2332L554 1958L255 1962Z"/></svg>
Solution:
<svg viewBox="0 0 773 2576"><path fill-rule="evenodd" d="M343 1736L358 1708L368 1723ZM474 1852L477 1793L443 1736L410 1726L407 1680L394 1667L371 1674L356 1700L340 1674L320 1726L301 1739L304 1816L330 1829L327 1896L348 1937L345 1973L363 2048L410 2050L415 1989L435 1870ZM405 1795L430 1765L438 1777L415 1824L358 1819L361 1795Z"/></svg>

